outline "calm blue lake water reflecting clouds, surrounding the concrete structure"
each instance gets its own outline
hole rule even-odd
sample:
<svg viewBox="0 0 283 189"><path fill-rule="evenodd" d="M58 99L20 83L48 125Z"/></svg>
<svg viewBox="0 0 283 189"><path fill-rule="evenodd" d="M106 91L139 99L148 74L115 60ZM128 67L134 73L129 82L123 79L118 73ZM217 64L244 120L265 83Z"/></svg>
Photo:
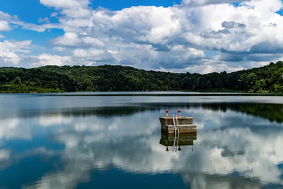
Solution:
<svg viewBox="0 0 283 189"><path fill-rule="evenodd" d="M283 188L283 97L88 95L0 95L0 188Z"/></svg>

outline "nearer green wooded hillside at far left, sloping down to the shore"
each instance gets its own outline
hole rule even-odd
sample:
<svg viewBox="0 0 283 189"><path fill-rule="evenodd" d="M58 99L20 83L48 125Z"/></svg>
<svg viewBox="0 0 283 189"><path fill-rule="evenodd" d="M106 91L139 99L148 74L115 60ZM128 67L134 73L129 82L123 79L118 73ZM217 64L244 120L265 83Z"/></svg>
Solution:
<svg viewBox="0 0 283 189"><path fill-rule="evenodd" d="M42 69L0 68L0 92L43 93L76 91L74 80Z"/></svg>

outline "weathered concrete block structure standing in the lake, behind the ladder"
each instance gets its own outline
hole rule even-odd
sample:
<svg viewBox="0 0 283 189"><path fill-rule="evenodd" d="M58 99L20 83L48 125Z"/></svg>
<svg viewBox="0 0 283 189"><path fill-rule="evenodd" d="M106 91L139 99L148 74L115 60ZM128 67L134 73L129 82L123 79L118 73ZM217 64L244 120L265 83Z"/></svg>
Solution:
<svg viewBox="0 0 283 189"><path fill-rule="evenodd" d="M161 131L167 133L174 133L174 122L172 117L160 117ZM179 117L178 125L180 133L197 132L197 125L192 124L193 118Z"/></svg>

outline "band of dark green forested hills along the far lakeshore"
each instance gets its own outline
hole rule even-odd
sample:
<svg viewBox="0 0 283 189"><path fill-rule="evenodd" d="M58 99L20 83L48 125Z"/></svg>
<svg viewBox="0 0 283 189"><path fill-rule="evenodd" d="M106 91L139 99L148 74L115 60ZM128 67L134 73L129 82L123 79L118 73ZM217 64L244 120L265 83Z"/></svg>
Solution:
<svg viewBox="0 0 283 189"><path fill-rule="evenodd" d="M174 74L104 65L1 67L0 92L63 91L247 91L283 92L283 62L265 67L211 74Z"/></svg>

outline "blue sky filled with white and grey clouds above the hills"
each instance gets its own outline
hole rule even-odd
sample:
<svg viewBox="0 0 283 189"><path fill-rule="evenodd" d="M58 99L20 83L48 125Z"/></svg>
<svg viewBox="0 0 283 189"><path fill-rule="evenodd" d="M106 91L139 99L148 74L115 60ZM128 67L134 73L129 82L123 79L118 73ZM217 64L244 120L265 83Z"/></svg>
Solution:
<svg viewBox="0 0 283 189"><path fill-rule="evenodd" d="M209 73L283 59L282 0L1 0L0 67Z"/></svg>

